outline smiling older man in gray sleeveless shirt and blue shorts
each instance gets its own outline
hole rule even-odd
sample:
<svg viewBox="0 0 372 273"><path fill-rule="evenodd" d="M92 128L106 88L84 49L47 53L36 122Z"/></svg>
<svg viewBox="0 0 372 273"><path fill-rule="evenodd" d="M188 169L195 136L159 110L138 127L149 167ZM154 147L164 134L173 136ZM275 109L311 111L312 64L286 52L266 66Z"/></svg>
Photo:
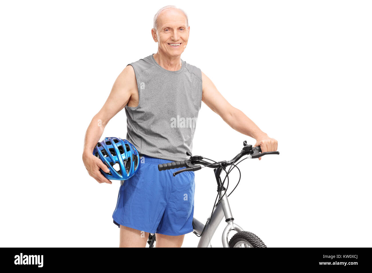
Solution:
<svg viewBox="0 0 372 273"><path fill-rule="evenodd" d="M160 9L151 30L157 53L124 68L86 132L84 165L99 183L111 184L99 171L108 168L92 151L105 125L123 108L126 139L141 155L141 168L122 183L112 215L120 227L120 247L145 247L149 233L156 233L156 247L180 247L185 234L192 232L194 173L173 177L174 170L159 172L157 164L187 159L202 101L233 129L256 139L263 152L276 151L278 146L228 103L199 68L181 59L189 32L185 12L174 6Z"/></svg>

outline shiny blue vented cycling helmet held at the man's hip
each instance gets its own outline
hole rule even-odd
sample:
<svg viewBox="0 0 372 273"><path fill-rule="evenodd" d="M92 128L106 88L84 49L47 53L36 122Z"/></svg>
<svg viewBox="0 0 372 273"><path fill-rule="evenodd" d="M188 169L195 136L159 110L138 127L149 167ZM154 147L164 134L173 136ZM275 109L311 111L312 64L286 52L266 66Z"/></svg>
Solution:
<svg viewBox="0 0 372 273"><path fill-rule="evenodd" d="M141 164L137 149L128 140L123 140L120 137L106 137L103 141L98 142L93 150L93 155L102 160L109 168L109 173L100 169L102 175L107 179L129 179L138 171Z"/></svg>

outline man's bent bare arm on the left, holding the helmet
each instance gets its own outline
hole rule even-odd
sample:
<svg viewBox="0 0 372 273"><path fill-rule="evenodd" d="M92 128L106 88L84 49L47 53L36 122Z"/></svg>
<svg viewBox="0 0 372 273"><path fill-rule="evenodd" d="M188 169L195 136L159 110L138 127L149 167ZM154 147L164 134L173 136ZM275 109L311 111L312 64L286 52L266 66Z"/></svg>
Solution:
<svg viewBox="0 0 372 273"><path fill-rule="evenodd" d="M83 162L89 175L99 183L111 184L99 171L101 168L103 171L109 172L109 169L98 157L93 155L94 147L96 147L97 142L99 142L106 124L125 107L134 92L138 92L137 81L133 67L128 65L120 73L118 78L116 78L109 97L101 110L92 118L86 131Z"/></svg>

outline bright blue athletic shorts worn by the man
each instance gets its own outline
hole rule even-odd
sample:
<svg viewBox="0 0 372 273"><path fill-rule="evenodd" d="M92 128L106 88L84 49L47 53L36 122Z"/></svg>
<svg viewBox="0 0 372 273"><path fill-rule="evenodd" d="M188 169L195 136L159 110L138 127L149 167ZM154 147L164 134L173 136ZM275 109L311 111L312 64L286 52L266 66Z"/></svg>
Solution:
<svg viewBox="0 0 372 273"><path fill-rule="evenodd" d="M138 172L120 186L112 214L116 225L173 236L193 231L195 174L158 170L158 164L169 162L141 155Z"/></svg>

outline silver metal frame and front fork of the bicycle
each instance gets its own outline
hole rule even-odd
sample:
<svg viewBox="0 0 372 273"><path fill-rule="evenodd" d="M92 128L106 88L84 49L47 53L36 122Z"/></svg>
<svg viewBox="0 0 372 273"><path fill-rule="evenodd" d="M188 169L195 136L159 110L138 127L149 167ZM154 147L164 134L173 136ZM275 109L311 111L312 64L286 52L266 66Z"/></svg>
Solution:
<svg viewBox="0 0 372 273"><path fill-rule="evenodd" d="M221 191L219 198L221 198L221 196L224 195L225 191L226 190ZM225 227L225 230L222 233L222 246L223 247L229 247L228 235L231 230L243 231L243 229L240 226L234 223L234 218L232 218L229 201L227 199L227 195L225 194L224 197L222 197L221 202L219 202L217 207L215 208L212 214L212 217L208 218L208 222L206 224L204 233L200 237L198 247L209 246L210 240L212 239L215 231L217 230L217 227L221 223L224 216L225 216L225 219L228 221L227 221L227 226ZM194 232L196 232L198 235L202 234L204 224L201 221L197 220L196 218L193 218L192 226L193 226Z"/></svg>

